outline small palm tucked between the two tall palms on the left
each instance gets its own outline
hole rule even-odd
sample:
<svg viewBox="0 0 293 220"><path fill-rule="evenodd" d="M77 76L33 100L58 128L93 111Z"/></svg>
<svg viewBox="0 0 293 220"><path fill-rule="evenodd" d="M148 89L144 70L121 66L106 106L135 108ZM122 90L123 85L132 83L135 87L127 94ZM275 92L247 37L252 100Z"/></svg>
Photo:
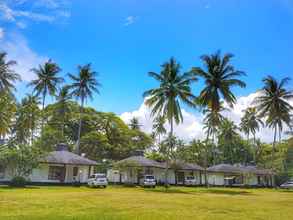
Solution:
<svg viewBox="0 0 293 220"><path fill-rule="evenodd" d="M63 86L60 89L59 94L56 96L56 100L57 100L56 113L58 114L58 118L61 119L62 137L64 137L65 118L66 118L66 113L69 111L68 104L70 99L71 99L71 95L69 93L68 86Z"/></svg>

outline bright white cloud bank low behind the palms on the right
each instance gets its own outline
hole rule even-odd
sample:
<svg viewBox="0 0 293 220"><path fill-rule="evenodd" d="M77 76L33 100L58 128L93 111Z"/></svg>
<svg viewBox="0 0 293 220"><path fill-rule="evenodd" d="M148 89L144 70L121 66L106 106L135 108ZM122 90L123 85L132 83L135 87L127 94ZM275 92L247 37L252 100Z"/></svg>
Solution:
<svg viewBox="0 0 293 220"><path fill-rule="evenodd" d="M230 111L224 112L225 117L234 121L236 124L239 124L241 117L244 114L243 111L252 105L252 102L257 95L257 92L255 92L247 96L238 97L234 108L230 109ZM291 104L293 105L293 101L291 101ZM205 137L202 122L204 116L196 112L188 112L185 109L182 109L182 114L184 118L183 123L175 126L175 134L186 141L190 141L193 138L203 139ZM152 131L152 118L150 116L150 109L144 103L139 107L139 109L132 112L125 112L121 114L120 117L126 123L129 123L131 118L137 117L140 124L142 125L143 131L147 133L151 133ZM288 128L284 128L284 131L287 129ZM273 131L269 128L262 128L260 129L260 132L256 134L256 136L261 138L262 141L271 142L273 134L272 132Z"/></svg>

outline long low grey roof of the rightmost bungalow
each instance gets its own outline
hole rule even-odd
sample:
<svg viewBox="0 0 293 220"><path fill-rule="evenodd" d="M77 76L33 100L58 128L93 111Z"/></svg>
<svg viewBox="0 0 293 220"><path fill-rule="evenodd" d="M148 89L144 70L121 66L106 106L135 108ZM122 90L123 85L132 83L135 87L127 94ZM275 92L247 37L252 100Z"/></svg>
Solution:
<svg viewBox="0 0 293 220"><path fill-rule="evenodd" d="M218 164L207 169L209 172L218 173L254 173L258 175L272 174L269 169L258 168L256 166L241 166L241 165L231 165L231 164Z"/></svg>

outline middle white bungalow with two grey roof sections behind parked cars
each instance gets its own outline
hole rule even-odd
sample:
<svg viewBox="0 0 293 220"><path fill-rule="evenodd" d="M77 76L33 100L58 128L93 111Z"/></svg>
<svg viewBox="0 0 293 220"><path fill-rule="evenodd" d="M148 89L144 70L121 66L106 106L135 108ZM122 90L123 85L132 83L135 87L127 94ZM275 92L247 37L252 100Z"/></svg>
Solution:
<svg viewBox="0 0 293 220"><path fill-rule="evenodd" d="M139 184L144 175L154 175L158 183L165 182L166 164L145 158L143 155L131 156L115 163L107 171L109 182ZM168 183L184 184L186 176L194 176L198 185L202 184L203 168L197 164L174 161L168 169Z"/></svg>

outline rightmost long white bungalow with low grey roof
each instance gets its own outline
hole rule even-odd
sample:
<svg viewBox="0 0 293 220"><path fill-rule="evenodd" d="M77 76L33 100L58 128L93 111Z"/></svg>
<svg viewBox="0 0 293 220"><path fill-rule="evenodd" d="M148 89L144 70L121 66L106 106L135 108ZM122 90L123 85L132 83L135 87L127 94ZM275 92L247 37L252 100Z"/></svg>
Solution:
<svg viewBox="0 0 293 220"><path fill-rule="evenodd" d="M272 186L272 171L255 166L218 164L207 169L213 186Z"/></svg>

